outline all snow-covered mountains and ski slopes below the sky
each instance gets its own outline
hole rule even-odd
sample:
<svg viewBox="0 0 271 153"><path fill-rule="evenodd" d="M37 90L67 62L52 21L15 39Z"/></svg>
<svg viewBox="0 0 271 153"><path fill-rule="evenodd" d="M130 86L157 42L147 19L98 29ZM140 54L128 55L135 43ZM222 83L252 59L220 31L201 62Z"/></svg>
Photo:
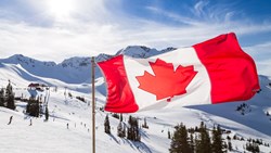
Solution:
<svg viewBox="0 0 271 153"><path fill-rule="evenodd" d="M164 51L173 50L172 48ZM120 50L136 58L147 58L159 52L145 47L128 47ZM103 61L112 55L100 54L96 61ZM23 55L13 55L0 60L0 87L5 87L11 80L16 97L30 97L27 90L30 82L41 82L50 86L49 122L44 117L35 118L24 114L26 103L16 101L16 111L0 107L0 153L87 153L91 152L91 85L90 59L70 58L62 63L41 62ZM231 130L230 137L244 139L261 139L271 144L271 82L267 76L259 76L261 92L246 102L245 110L236 111L243 102L219 105L198 105L173 107L157 111L124 114L127 122L129 115L147 120L149 129L141 129L141 141L133 142L117 137L118 119L109 115L112 135L104 132L104 118L107 112L100 110L105 103L106 89L99 69L95 77L96 94L96 152L98 153L166 153L170 146L168 131L173 132L177 124L186 127L198 126L205 122L208 128L220 125ZM55 90L57 87L57 90ZM68 92L73 98L64 94ZM49 90L37 91L44 97ZM75 97L82 97L86 102ZM242 114L243 113L243 114ZM11 125L8 125L13 116ZM33 125L29 126L30 120ZM233 152L244 152L245 141L232 140ZM271 148L260 145L262 152L271 152Z"/></svg>

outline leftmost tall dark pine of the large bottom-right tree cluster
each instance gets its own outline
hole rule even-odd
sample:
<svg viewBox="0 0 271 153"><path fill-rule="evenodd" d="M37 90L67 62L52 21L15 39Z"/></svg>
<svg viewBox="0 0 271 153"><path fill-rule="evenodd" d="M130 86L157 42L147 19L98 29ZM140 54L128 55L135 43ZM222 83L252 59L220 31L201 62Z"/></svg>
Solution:
<svg viewBox="0 0 271 153"><path fill-rule="evenodd" d="M181 124L175 127L176 131L173 132L171 143L170 143L170 153L192 153L192 150L189 145L188 130L186 127Z"/></svg>

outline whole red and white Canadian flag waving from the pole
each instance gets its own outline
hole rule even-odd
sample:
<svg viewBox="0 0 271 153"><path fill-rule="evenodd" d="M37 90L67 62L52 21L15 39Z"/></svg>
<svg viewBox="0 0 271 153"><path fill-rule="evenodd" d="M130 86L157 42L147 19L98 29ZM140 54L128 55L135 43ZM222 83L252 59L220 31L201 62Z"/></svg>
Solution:
<svg viewBox="0 0 271 153"><path fill-rule="evenodd" d="M244 101L260 89L254 60L233 33L150 59L118 55L98 65L107 84L105 111L115 113Z"/></svg>

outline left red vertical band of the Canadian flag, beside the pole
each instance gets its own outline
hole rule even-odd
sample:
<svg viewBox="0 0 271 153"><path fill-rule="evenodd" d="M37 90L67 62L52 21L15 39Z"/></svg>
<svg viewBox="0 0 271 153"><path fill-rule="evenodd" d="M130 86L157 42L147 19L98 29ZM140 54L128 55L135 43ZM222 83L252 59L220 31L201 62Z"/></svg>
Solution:
<svg viewBox="0 0 271 153"><path fill-rule="evenodd" d="M124 65L124 56L118 55L108 61L99 62L107 82L107 103L105 111L132 113L139 110L131 91Z"/></svg>

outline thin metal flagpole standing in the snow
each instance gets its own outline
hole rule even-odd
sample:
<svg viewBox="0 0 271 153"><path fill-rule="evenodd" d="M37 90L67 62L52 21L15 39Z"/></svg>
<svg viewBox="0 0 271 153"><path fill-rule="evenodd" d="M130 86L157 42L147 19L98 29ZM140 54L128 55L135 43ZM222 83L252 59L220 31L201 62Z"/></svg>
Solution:
<svg viewBox="0 0 271 153"><path fill-rule="evenodd" d="M95 59L91 58L92 80L92 153L95 153Z"/></svg>

